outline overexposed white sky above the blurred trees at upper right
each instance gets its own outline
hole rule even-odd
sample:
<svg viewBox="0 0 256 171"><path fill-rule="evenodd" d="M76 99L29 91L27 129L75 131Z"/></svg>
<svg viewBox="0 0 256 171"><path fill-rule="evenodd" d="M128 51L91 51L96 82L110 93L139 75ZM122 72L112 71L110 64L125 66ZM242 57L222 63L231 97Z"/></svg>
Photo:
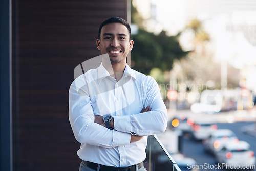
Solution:
<svg viewBox="0 0 256 171"><path fill-rule="evenodd" d="M256 64L256 1L151 0L151 3L156 5L156 20L170 35L177 34L189 20L197 18L210 35L216 60L233 60L238 69ZM227 29L228 26L237 30ZM181 38L185 50L193 48L191 34L186 32Z"/></svg>

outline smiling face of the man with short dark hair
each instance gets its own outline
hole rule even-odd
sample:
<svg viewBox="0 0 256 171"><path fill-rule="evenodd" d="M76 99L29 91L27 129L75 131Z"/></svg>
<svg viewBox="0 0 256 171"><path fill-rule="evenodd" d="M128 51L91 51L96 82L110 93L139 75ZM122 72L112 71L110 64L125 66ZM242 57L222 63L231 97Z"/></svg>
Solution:
<svg viewBox="0 0 256 171"><path fill-rule="evenodd" d="M126 62L129 51L133 48L128 29L121 23L110 23L101 29L100 40L97 39L97 48L101 54L109 54L112 64Z"/></svg>

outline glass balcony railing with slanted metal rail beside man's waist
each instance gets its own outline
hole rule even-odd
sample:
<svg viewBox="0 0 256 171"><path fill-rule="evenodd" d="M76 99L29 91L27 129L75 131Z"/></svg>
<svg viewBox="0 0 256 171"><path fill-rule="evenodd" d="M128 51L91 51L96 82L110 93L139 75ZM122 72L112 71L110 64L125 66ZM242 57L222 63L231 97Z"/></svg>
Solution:
<svg viewBox="0 0 256 171"><path fill-rule="evenodd" d="M181 171L156 135L148 136L146 156L147 171Z"/></svg>

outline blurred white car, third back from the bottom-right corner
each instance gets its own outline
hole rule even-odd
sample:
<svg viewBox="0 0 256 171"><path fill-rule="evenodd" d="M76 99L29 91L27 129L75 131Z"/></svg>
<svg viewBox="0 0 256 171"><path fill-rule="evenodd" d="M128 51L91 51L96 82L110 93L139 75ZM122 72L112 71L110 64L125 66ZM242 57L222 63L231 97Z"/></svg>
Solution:
<svg viewBox="0 0 256 171"><path fill-rule="evenodd" d="M197 121L191 126L191 135L195 140L209 138L210 134L217 130L217 125L205 121Z"/></svg>

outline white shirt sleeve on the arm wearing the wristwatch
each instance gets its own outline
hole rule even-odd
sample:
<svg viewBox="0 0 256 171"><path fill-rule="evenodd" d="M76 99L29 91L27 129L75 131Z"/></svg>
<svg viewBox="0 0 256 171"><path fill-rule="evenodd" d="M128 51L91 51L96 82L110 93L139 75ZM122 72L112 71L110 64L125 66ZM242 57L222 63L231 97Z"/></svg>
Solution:
<svg viewBox="0 0 256 171"><path fill-rule="evenodd" d="M114 116L115 130L146 136L164 132L167 127L167 109L162 100L157 82L148 76L144 107L150 106L150 112L134 115Z"/></svg>

